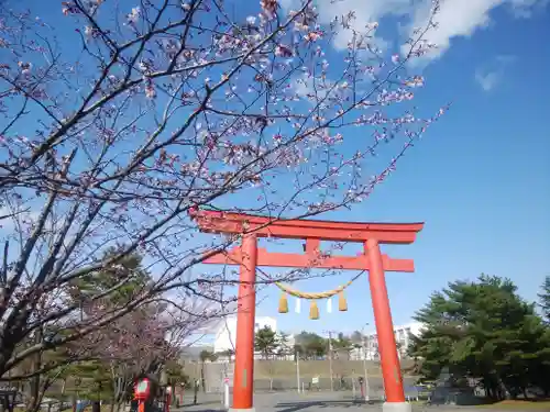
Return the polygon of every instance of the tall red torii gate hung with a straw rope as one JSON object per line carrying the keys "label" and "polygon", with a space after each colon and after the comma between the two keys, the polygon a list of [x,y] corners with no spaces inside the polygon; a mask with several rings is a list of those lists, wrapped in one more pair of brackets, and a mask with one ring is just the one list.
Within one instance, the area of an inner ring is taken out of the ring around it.
{"label": "tall red torii gate hung with a straw rope", "polygon": [[[208,257],[202,263],[240,265],[233,411],[253,410],[254,320],[256,266],[369,270],[378,350],[388,411],[410,411],[405,402],[399,357],[384,271],[414,271],[413,259],[394,259],[381,253],[381,244],[411,244],[424,223],[348,223],[283,220],[250,214],[194,210],[201,232],[242,235],[241,247]],[[271,253],[257,247],[257,237],[306,241],[305,254]],[[320,241],[362,243],[358,256],[323,257]]]}

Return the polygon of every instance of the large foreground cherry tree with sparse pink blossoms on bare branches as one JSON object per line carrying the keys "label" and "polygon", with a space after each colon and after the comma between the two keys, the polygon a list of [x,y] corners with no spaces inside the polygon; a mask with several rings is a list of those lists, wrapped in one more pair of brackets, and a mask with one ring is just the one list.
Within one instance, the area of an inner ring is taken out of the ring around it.
{"label": "large foreground cherry tree with sparse pink blossoms on bare branches", "polygon": [[[234,301],[237,278],[196,266],[238,238],[202,237],[189,211],[352,207],[444,112],[413,105],[425,81],[408,62],[433,47],[432,20],[386,56],[353,13],[322,25],[308,0],[242,4],[68,0],[52,22],[0,5],[0,377],[175,290],[182,313],[210,319],[197,299]],[[374,156],[387,162],[366,171]],[[152,280],[102,308],[136,276],[121,266],[134,253]],[[73,299],[106,267],[111,287]]]}

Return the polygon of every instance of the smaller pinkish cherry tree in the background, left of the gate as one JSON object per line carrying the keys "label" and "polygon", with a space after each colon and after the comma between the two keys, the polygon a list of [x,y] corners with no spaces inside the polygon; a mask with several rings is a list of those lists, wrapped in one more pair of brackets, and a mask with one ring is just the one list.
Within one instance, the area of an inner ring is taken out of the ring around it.
{"label": "smaller pinkish cherry tree in the background, left of the gate", "polygon": [[102,393],[108,393],[111,411],[118,411],[128,401],[135,378],[158,375],[170,360],[177,363],[186,337],[201,326],[196,316],[175,315],[166,303],[155,302],[69,344],[67,354],[81,359],[85,348],[96,379],[105,385]]}

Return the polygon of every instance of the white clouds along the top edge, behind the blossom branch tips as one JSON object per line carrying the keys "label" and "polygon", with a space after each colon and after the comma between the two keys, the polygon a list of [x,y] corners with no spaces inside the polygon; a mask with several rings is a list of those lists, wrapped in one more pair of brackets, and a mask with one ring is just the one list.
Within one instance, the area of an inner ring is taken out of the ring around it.
{"label": "white clouds along the top edge, behind the blossom branch tips", "polygon": [[[336,16],[353,12],[355,19],[351,27],[359,31],[364,31],[367,23],[386,16],[407,16],[409,23],[404,33],[408,37],[415,27],[426,26],[432,0],[317,0],[316,3],[321,23],[327,24]],[[438,48],[426,55],[424,60],[428,63],[442,56],[451,46],[452,38],[469,37],[477,30],[487,27],[492,23],[491,12],[497,7],[506,5],[513,15],[528,18],[549,3],[550,0],[441,0],[441,11],[436,19],[439,27],[426,37]],[[280,0],[280,4],[285,9],[297,9],[300,1]],[[342,31],[334,38],[334,47],[345,48],[351,36],[352,31]],[[387,45],[387,40],[377,41]]]}

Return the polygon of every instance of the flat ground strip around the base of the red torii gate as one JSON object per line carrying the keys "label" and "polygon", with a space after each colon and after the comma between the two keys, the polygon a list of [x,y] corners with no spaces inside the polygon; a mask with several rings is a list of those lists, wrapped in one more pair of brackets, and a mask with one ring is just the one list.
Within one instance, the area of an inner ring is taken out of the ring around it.
{"label": "flat ground strip around the base of the red torii gate", "polygon": [[[174,412],[219,412],[224,411],[222,399],[219,394],[199,396],[199,404],[190,405],[191,399],[185,399],[186,405]],[[189,402],[189,403],[188,403]],[[254,408],[256,412],[361,412],[382,411],[382,403],[375,401],[365,404],[354,400],[351,392],[316,392],[298,394],[297,392],[255,393]],[[550,411],[550,402],[532,402],[526,404],[514,404],[504,402],[502,404],[481,407],[455,407],[455,405],[427,405],[425,402],[413,402],[413,412],[530,412]]]}

